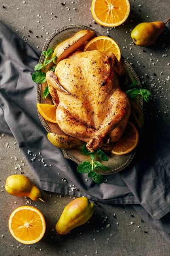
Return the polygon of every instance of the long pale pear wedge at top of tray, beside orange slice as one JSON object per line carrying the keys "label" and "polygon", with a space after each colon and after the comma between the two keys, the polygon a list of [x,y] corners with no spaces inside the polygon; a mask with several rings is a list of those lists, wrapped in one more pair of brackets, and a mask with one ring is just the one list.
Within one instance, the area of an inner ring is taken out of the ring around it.
{"label": "long pale pear wedge at top of tray, beside orange slice", "polygon": [[57,56],[57,58],[55,58],[53,62],[58,64],[59,61],[65,59],[71,52],[74,52],[93,35],[95,35],[95,33],[91,30],[81,30],[71,38],[68,38],[61,44],[57,45],[53,53],[53,57]]}

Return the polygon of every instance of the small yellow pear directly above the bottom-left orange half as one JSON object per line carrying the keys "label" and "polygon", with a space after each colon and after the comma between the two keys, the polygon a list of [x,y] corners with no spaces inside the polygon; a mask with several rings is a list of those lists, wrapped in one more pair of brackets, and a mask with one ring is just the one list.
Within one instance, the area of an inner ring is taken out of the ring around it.
{"label": "small yellow pear directly above the bottom-left orange half", "polygon": [[24,175],[11,175],[6,179],[5,185],[6,191],[10,195],[15,195],[19,197],[27,196],[33,201],[40,199],[41,197],[40,190],[32,183],[28,177]]}

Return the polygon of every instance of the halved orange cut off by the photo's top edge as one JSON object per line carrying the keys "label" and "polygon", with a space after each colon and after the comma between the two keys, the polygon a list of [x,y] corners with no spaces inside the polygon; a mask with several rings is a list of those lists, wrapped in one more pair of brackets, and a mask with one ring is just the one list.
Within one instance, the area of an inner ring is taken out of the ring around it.
{"label": "halved orange cut off by the photo's top edge", "polygon": [[100,25],[119,26],[127,19],[130,12],[128,0],[93,0],[91,13]]}

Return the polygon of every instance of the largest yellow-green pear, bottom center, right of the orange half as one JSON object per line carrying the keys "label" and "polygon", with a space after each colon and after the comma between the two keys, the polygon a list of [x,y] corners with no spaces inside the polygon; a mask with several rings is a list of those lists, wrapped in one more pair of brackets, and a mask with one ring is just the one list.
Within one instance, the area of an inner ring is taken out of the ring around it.
{"label": "largest yellow-green pear, bottom center, right of the orange half", "polygon": [[65,235],[74,227],[85,224],[94,213],[94,204],[88,198],[76,198],[63,210],[59,221],[56,224],[56,231]]}

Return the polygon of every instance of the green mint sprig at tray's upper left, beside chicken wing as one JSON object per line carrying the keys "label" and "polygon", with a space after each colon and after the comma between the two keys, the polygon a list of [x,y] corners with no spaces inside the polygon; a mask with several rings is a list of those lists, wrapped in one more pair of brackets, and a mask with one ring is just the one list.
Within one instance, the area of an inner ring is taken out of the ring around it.
{"label": "green mint sprig at tray's upper left, beside chicken wing", "polygon": [[[47,60],[48,56],[51,55],[51,53],[53,53],[54,50],[53,48],[49,48],[47,51],[43,51],[42,54],[45,56],[45,61],[44,61],[44,64],[42,63],[39,63],[35,66],[35,71],[38,71],[38,70],[41,70],[43,67],[45,67],[46,65],[48,65],[51,61],[53,61],[55,57],[51,58],[50,60]],[[53,67],[54,69],[54,67]],[[52,70],[54,71],[54,70]],[[32,80],[36,83],[45,83],[46,82],[46,79],[45,79],[45,76],[46,76],[46,73],[45,72],[36,72],[36,73],[33,73],[32,75]],[[48,91],[48,94],[49,94],[49,91]],[[44,93],[45,95],[45,98],[47,97],[48,95],[47,93]]]}

